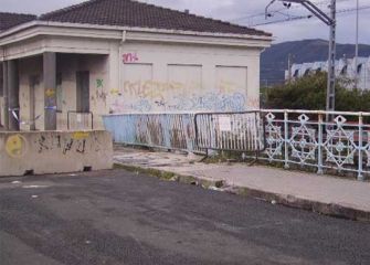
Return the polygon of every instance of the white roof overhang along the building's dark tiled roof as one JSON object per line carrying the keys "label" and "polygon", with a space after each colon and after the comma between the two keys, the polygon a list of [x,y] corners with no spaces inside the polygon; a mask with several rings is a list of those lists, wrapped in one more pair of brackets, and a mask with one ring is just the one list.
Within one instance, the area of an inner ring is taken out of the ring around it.
{"label": "white roof overhang along the building's dark tiled roof", "polygon": [[76,36],[121,41],[198,43],[260,49],[268,47],[273,41],[273,38],[267,35],[209,33],[149,28],[32,21],[0,32],[0,46],[10,45],[38,35]]}

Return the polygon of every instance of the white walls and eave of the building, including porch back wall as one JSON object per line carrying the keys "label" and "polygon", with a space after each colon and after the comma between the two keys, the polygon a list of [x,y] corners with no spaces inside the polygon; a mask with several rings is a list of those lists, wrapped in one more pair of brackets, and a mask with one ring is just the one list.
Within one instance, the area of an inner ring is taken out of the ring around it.
{"label": "white walls and eave of the building, including porch back wall", "polygon": [[[67,41],[70,40],[70,41]],[[39,75],[35,129],[44,129],[42,53],[57,54],[57,129],[76,110],[76,72],[89,71],[94,128],[102,115],[131,112],[245,110],[260,107],[261,46],[180,44],[57,36],[7,47],[20,62],[21,129],[31,128],[30,76]],[[22,59],[23,54],[28,59]]]}

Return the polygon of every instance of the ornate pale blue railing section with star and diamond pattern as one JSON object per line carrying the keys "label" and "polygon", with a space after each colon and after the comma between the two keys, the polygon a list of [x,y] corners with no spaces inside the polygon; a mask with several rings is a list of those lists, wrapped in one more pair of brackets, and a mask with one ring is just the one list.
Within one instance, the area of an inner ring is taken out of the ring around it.
{"label": "ornate pale blue railing section with star and diamond pattern", "polygon": [[370,174],[370,113],[262,110],[271,162]]}

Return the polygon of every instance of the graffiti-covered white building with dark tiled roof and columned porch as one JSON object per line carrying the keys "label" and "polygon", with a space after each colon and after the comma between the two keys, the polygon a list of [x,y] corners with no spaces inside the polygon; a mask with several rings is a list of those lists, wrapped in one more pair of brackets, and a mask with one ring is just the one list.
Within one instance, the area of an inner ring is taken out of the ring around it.
{"label": "graffiti-covered white building with dark tiled roof and columned porch", "polygon": [[102,115],[260,103],[263,31],[134,0],[0,13],[0,125],[102,128]]}

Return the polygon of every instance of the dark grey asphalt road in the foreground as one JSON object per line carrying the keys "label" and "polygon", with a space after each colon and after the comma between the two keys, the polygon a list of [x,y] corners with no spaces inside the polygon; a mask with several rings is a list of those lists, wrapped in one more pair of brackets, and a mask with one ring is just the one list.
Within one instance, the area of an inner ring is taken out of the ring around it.
{"label": "dark grey asphalt road in the foreground", "polygon": [[123,170],[2,178],[0,264],[370,264],[370,224]]}

